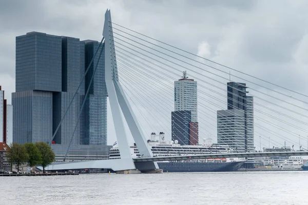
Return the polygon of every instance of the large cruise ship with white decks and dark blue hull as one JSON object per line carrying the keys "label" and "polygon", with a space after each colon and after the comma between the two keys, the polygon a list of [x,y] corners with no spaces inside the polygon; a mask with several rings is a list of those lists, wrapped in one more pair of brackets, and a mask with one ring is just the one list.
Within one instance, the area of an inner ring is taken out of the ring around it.
{"label": "large cruise ship with white decks and dark blue hull", "polygon": [[[152,150],[154,157],[159,156],[183,156],[200,154],[231,153],[233,150],[226,145],[209,144],[204,139],[202,145],[180,145],[178,140],[165,140],[164,133],[159,135],[151,134],[151,139],[147,140],[147,146]],[[114,143],[110,149],[109,158],[119,159],[119,147]],[[136,144],[130,146],[132,158],[143,157],[140,155]],[[159,169],[163,172],[232,172],[237,171],[246,159],[240,158],[208,158],[190,160],[172,160],[157,162]]]}

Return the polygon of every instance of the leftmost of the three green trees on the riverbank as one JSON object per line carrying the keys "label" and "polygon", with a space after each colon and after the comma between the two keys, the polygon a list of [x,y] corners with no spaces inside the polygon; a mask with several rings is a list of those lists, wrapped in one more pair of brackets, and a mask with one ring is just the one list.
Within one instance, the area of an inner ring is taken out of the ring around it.
{"label": "leftmost of the three green trees on the riverbank", "polygon": [[13,143],[11,149],[7,152],[6,157],[11,163],[16,163],[17,171],[19,172],[19,167],[27,162],[29,155],[24,145]]}

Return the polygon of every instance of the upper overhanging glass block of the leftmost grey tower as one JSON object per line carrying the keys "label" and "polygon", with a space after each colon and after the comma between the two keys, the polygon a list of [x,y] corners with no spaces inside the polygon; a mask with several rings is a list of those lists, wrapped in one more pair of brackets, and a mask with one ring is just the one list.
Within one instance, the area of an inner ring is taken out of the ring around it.
{"label": "upper overhanging glass block of the leftmost grey tower", "polygon": [[61,36],[30,32],[16,37],[16,92],[61,92]]}

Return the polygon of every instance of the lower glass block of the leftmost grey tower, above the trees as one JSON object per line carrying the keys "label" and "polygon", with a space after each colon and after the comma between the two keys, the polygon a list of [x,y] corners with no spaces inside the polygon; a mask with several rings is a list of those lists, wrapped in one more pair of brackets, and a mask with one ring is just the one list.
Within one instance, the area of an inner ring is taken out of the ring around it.
{"label": "lower glass block of the leftmost grey tower, above the trees", "polygon": [[12,93],[13,142],[49,142],[52,136],[52,92]]}

